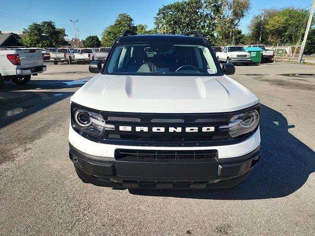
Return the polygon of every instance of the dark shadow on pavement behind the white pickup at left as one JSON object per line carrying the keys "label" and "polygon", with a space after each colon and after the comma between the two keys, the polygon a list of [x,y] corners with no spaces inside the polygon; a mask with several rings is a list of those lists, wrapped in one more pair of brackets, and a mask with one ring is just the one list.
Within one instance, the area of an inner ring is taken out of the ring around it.
{"label": "dark shadow on pavement behind the white pickup at left", "polygon": [[[0,128],[16,120],[38,112],[64,98],[71,96],[72,91],[52,91],[51,89],[71,89],[84,85],[83,80],[33,80],[26,85],[15,85],[7,82],[0,90]],[[32,91],[24,91],[32,89]],[[41,91],[41,90],[49,91]]]}

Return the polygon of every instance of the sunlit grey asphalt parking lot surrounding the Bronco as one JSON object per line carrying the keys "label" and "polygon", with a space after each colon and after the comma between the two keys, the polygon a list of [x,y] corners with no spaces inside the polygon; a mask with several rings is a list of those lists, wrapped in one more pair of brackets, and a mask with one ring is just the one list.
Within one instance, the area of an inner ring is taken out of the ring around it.
{"label": "sunlit grey asphalt parking lot surrounding the Bronco", "polygon": [[261,102],[262,159],[215,190],[82,183],[68,157],[69,99],[94,75],[47,67],[0,90],[0,235],[315,235],[315,75],[302,75],[314,65],[236,66],[231,77]]}

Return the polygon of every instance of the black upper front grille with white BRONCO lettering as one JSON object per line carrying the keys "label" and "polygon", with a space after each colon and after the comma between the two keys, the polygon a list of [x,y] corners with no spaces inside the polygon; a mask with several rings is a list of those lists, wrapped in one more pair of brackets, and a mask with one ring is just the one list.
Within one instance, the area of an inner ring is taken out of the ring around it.
{"label": "black upper front grille with white BRONCO lettering", "polygon": [[106,124],[115,126],[114,130],[105,130],[101,137],[82,133],[73,126],[87,139],[113,145],[156,147],[210,147],[237,144],[250,137],[256,130],[233,139],[227,129],[219,127],[228,125],[230,118],[237,113],[252,109],[259,112],[259,104],[235,112],[192,114],[105,112],[72,103],[71,111],[75,108],[100,113]]}

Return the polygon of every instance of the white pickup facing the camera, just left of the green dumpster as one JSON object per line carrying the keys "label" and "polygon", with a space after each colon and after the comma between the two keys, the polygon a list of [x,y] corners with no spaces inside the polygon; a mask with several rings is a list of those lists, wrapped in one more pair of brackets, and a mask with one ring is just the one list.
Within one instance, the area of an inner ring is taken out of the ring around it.
{"label": "white pickup facing the camera, just left of the green dumpster", "polygon": [[216,56],[219,61],[226,63],[249,64],[251,62],[251,54],[246,52],[242,46],[226,46],[222,52],[217,52]]}

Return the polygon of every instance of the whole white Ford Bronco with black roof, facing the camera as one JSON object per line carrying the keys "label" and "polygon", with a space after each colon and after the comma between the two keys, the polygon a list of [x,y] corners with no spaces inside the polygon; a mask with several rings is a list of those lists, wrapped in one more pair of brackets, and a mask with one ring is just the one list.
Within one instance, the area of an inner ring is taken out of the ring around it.
{"label": "whole white Ford Bronco with black roof, facing the camera", "polygon": [[126,30],[103,67],[90,64],[97,75],[70,107],[69,156],[83,182],[195,189],[248,177],[260,159],[259,99],[190,33]]}

